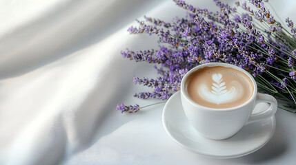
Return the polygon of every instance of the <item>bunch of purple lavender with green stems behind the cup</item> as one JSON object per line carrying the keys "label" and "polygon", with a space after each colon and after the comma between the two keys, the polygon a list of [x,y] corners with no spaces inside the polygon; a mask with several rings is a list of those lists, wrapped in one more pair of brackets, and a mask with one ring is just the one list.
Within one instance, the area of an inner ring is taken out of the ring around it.
{"label": "bunch of purple lavender with green stems behind the cup", "polygon": [[[155,79],[135,77],[136,84],[152,88],[135,97],[167,100],[179,91],[181,78],[191,68],[210,62],[230,63],[252,74],[258,91],[282,100],[280,106],[295,113],[288,109],[296,107],[296,28],[293,21],[287,18],[286,25],[277,21],[262,0],[249,0],[248,4],[237,2],[236,8],[214,0],[219,12],[174,1],[187,10],[186,17],[176,17],[170,23],[144,17],[145,21],[138,21],[139,27],[128,29],[130,34],[159,36],[159,50],[121,52],[124,58],[136,62],[155,63],[159,74]],[[237,12],[239,8],[244,12]],[[142,108],[138,104],[117,105],[122,113]]]}

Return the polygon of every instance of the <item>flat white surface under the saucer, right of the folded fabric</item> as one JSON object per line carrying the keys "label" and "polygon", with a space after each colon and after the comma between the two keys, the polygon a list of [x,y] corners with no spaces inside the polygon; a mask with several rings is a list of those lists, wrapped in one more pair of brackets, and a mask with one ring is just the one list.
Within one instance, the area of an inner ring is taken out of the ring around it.
{"label": "flat white surface under the saucer, right of the folded fabric", "polygon": [[67,164],[295,164],[296,116],[282,109],[275,115],[275,133],[265,146],[243,157],[213,159],[187,151],[166,133],[161,120],[163,107],[132,115],[109,113],[93,144]]}

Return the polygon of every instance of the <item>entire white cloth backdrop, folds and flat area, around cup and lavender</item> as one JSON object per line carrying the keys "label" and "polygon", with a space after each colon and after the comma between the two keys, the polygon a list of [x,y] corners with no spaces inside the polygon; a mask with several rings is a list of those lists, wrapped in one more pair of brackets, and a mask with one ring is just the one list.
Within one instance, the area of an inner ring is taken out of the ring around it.
{"label": "entire white cloth backdrop, folds and flat area, around cup and lavender", "polygon": [[[271,3],[296,20],[295,1]],[[120,54],[157,48],[157,37],[127,28],[144,15],[181,14],[172,1],[0,0],[0,164],[293,164],[296,115],[282,109],[270,142],[235,159],[179,146],[162,126],[164,104],[133,114],[115,109],[157,102],[132,97],[147,90],[133,76],[157,76],[152,65]]]}

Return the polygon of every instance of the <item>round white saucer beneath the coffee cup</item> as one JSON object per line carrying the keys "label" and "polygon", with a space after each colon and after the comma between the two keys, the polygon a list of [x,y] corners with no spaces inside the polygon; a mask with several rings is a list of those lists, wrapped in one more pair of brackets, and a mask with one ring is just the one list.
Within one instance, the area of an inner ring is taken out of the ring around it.
{"label": "round white saucer beneath the coffee cup", "polygon": [[[267,104],[257,104],[255,111],[266,109]],[[248,155],[264,146],[275,132],[275,116],[244,126],[226,140],[210,140],[195,131],[188,122],[178,91],[168,99],[162,116],[164,129],[184,148],[215,158],[232,158]]]}

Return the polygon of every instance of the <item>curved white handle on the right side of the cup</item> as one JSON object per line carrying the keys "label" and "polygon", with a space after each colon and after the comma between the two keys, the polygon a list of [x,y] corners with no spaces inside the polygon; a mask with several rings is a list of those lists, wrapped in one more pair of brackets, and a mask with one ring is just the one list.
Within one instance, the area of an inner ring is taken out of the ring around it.
{"label": "curved white handle on the right side of the cup", "polygon": [[265,111],[250,115],[250,118],[248,118],[248,122],[246,122],[246,124],[270,118],[271,116],[275,115],[275,112],[277,111],[277,100],[273,96],[258,93],[255,104],[258,104],[259,102],[268,102],[270,103],[270,106]]}

